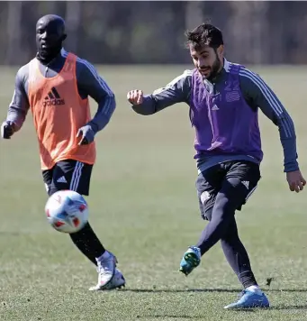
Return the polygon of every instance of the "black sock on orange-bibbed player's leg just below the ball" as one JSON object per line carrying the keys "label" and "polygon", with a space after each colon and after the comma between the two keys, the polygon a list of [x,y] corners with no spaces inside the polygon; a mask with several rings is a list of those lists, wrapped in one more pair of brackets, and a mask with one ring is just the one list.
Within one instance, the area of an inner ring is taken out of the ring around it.
{"label": "black sock on orange-bibbed player's leg just below the ball", "polygon": [[95,258],[104,254],[105,249],[103,244],[100,243],[91,225],[86,223],[82,230],[77,233],[70,234],[70,238],[77,248],[86,255],[87,259],[97,265]]}

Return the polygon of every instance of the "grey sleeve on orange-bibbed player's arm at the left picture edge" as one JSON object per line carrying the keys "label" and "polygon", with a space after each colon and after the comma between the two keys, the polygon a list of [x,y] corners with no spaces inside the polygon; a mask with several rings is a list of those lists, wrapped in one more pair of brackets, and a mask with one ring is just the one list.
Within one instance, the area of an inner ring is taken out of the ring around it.
{"label": "grey sleeve on orange-bibbed player's arm at the left picture edge", "polygon": [[28,114],[30,105],[28,95],[26,93],[25,82],[28,78],[28,66],[23,66],[18,70],[15,78],[14,95],[9,105],[6,117],[7,122],[14,123],[14,132],[19,131]]}

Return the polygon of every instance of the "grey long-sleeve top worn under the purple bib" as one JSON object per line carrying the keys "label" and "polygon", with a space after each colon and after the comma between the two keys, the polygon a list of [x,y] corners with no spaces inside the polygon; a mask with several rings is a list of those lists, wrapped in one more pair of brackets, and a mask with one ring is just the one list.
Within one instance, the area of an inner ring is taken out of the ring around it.
{"label": "grey long-sleeve top worn under the purple bib", "polygon": [[[203,79],[207,90],[212,94],[220,92],[224,86],[225,76],[229,72],[229,62],[224,60],[224,67],[220,74],[210,82]],[[159,88],[152,95],[144,96],[140,105],[132,105],[133,110],[140,115],[152,115],[176,103],[190,104],[193,70],[185,70],[179,77],[172,80],[166,87]],[[298,170],[296,152],[296,136],[291,116],[284,105],[266,82],[249,69],[240,69],[239,85],[241,92],[252,109],[259,108],[279,129],[280,141],[284,150],[284,171]],[[203,156],[197,160],[199,171],[210,168],[217,163],[232,160],[251,160],[248,155],[214,155]],[[256,161],[257,162],[257,161]]]}

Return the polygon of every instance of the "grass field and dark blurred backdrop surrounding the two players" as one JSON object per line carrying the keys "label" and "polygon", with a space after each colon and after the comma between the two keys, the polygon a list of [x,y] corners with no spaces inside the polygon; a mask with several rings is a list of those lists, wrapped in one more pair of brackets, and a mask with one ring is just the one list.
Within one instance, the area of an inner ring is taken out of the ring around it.
{"label": "grass field and dark blurred backdrop surrounding the two players", "polygon": [[[1,321],[225,320],[221,307],[236,298],[239,283],[220,245],[189,278],[177,271],[205,225],[194,188],[188,106],[136,115],[127,92],[151,93],[192,69],[184,32],[211,19],[224,34],[227,59],[256,71],[292,116],[306,178],[307,2],[1,1],[0,122],[16,71],[35,55],[35,23],[44,14],[66,19],[66,49],[95,64],[116,96],[110,124],[95,137],[87,200],[91,225],[119,258],[129,290],[88,295],[95,269],[67,235],[48,225],[29,112],[20,132],[0,139]],[[93,100],[91,107],[93,114]],[[271,291],[274,308],[226,318],[305,321],[306,190],[289,192],[278,128],[261,112],[259,124],[262,179],[237,220],[257,281]],[[268,278],[274,278],[270,286]]]}

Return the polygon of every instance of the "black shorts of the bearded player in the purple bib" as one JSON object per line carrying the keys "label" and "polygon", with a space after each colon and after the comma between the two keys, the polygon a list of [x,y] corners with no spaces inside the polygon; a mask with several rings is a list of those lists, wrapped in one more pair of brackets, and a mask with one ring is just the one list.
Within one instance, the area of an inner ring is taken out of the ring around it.
{"label": "black shorts of the bearded player in the purple bib", "polygon": [[260,178],[259,165],[252,161],[227,161],[201,172],[196,188],[203,219],[211,220],[212,207],[221,191],[227,191],[241,210]]}

